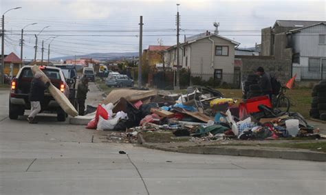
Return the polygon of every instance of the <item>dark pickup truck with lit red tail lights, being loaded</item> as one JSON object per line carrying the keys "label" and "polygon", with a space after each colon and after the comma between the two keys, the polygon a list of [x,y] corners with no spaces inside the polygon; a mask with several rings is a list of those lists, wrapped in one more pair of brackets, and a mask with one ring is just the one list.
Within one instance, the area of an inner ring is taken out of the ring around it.
{"label": "dark pickup truck with lit red tail lights, being loaded", "polygon": [[[39,67],[51,80],[52,84],[69,97],[69,87],[63,76],[63,71],[56,67]],[[30,83],[33,79],[31,66],[22,67],[17,76],[12,79],[9,98],[9,118],[18,119],[19,115],[24,115],[25,110],[30,110]],[[59,122],[64,122],[67,114],[52,95],[45,91],[45,100],[41,102],[41,112],[56,112]]]}

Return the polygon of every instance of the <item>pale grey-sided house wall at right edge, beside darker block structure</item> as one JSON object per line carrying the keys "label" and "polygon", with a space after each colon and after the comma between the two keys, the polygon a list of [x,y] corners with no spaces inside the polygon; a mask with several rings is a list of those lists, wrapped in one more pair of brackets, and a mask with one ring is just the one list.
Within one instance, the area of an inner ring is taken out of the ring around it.
{"label": "pale grey-sided house wall at right edge, beside darker block structure", "polygon": [[326,80],[326,22],[287,32],[297,80]]}

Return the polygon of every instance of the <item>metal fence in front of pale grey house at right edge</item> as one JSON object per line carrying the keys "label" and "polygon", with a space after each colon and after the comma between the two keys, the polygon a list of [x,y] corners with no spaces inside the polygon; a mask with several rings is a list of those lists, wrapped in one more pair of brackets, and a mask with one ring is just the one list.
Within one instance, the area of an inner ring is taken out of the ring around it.
{"label": "metal fence in front of pale grey house at right edge", "polygon": [[302,67],[294,65],[292,75],[296,74],[296,80],[326,80],[326,66]]}

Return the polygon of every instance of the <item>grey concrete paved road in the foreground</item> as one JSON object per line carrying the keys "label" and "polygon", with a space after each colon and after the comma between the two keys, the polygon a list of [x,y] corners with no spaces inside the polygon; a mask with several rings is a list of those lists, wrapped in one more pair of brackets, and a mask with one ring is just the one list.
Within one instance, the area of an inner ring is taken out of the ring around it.
{"label": "grey concrete paved road in the foreground", "polygon": [[[92,91],[91,101],[100,98],[95,88]],[[7,113],[8,92],[0,91],[0,194],[326,192],[325,163],[108,144],[102,143],[102,132],[56,122],[53,116],[28,124],[24,118],[8,119]]]}

